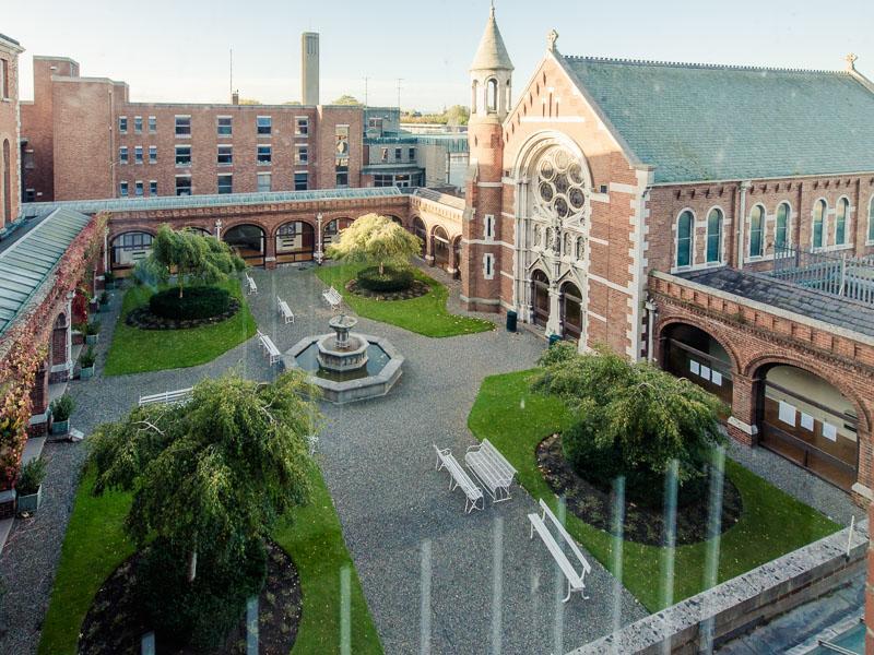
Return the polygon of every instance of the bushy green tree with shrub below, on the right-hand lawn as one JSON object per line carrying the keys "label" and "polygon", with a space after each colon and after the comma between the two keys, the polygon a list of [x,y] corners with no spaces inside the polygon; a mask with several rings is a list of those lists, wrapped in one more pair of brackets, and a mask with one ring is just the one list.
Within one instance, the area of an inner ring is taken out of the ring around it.
{"label": "bushy green tree with shrub below, on the right-hand lawn", "polygon": [[646,489],[676,460],[683,485],[704,475],[710,450],[724,442],[722,403],[688,380],[605,347],[587,355],[553,347],[541,364],[533,390],[557,395],[575,412],[563,445],[586,477],[624,475],[629,487]]}

